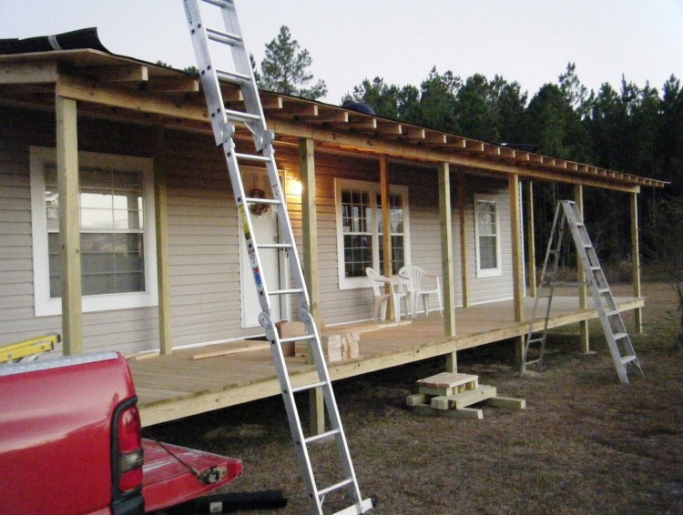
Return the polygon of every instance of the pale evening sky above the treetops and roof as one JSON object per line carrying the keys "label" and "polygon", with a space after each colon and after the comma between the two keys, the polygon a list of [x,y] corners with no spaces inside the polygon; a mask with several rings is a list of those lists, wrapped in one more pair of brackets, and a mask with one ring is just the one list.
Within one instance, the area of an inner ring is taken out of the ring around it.
{"label": "pale evening sky above the treetops and roof", "polygon": [[[339,104],[362,80],[419,86],[433,66],[517,81],[529,98],[569,62],[588,88],[683,79],[683,0],[236,0],[257,63],[281,25]],[[210,9],[210,6],[209,6]],[[207,24],[209,25],[209,24]],[[212,24],[220,25],[218,24]],[[0,38],[97,26],[113,53],[195,65],[182,0],[0,0]]]}

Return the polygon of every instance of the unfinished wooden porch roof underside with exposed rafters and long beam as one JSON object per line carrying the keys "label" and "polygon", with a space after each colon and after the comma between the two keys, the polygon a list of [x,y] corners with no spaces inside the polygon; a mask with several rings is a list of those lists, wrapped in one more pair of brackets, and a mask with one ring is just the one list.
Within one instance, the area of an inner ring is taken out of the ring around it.
{"label": "unfinished wooden porch roof underside with exposed rafters and long beam", "polygon": [[[221,89],[230,108],[243,108],[238,86]],[[56,95],[79,101],[86,116],[210,132],[199,79],[188,73],[89,49],[0,56],[0,103],[54,109]],[[284,143],[307,137],[324,149],[624,191],[667,184],[293,96],[262,91],[261,103]]]}

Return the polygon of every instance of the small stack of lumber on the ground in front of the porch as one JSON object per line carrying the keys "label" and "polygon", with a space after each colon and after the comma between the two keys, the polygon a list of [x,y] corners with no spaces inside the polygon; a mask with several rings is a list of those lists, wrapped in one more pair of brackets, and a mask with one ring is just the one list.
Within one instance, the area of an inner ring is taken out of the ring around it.
{"label": "small stack of lumber on the ground in front of the porch", "polygon": [[417,393],[405,400],[408,406],[430,412],[448,412],[456,417],[483,419],[482,409],[470,408],[486,402],[499,408],[525,409],[525,399],[498,397],[495,387],[480,385],[479,376],[442,372],[417,381]]}

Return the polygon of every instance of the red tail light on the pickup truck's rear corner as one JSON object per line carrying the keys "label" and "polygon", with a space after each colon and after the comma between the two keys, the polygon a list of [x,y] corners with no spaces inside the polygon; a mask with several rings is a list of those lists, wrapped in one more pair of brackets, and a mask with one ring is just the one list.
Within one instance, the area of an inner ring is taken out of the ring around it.
{"label": "red tail light on the pickup truck's rear corner", "polygon": [[140,414],[136,404],[118,413],[116,425],[115,478],[118,491],[125,493],[142,486],[143,450],[140,437]]}

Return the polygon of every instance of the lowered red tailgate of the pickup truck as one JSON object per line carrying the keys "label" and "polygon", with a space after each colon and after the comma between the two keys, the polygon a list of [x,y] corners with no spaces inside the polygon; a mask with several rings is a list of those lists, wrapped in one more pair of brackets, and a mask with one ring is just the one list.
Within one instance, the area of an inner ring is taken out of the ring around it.
{"label": "lowered red tailgate of the pickup truck", "polygon": [[[208,494],[227,485],[242,473],[240,459],[167,443],[162,446],[150,439],[142,439],[142,446],[145,449],[145,464],[142,468],[145,511],[161,510]],[[189,470],[188,465],[199,474],[213,467],[224,467],[225,474],[216,482],[205,484]]]}

